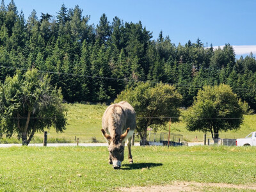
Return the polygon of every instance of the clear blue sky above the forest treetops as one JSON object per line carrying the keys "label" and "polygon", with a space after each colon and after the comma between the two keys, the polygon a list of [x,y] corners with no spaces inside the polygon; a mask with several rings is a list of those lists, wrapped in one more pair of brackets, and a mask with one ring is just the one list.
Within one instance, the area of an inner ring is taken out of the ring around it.
{"label": "clear blue sky above the forest treetops", "polygon": [[[4,1],[7,5],[10,0]],[[204,44],[236,45],[237,55],[256,54],[256,1],[254,0],[14,0],[26,19],[33,9],[56,15],[61,4],[67,8],[79,5],[83,15],[90,15],[90,24],[99,23],[102,13],[111,22],[115,16],[124,22],[138,22],[153,32],[169,35],[175,45],[195,42],[199,37]],[[243,45],[243,47],[241,47]],[[250,46],[247,46],[250,45]],[[255,46],[252,46],[255,45]],[[235,47],[235,46],[234,46]]]}

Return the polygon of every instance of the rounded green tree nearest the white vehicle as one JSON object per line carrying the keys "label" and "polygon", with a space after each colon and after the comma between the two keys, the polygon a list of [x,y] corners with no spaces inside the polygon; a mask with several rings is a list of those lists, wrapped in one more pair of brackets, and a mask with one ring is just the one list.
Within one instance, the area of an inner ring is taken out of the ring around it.
{"label": "rounded green tree nearest the white vehicle", "polygon": [[243,109],[230,86],[204,86],[183,118],[189,131],[211,132],[218,139],[220,131],[239,129]]}

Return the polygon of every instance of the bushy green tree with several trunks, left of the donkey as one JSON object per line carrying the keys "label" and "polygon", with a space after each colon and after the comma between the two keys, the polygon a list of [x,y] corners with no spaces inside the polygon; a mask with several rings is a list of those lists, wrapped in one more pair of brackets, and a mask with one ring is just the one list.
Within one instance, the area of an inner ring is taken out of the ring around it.
{"label": "bushy green tree with several trunks, left of the donkey", "polygon": [[50,78],[35,68],[24,75],[18,70],[1,84],[0,131],[8,137],[17,133],[22,145],[28,145],[35,132],[51,126],[62,132],[66,125],[64,112],[61,90],[52,87]]}

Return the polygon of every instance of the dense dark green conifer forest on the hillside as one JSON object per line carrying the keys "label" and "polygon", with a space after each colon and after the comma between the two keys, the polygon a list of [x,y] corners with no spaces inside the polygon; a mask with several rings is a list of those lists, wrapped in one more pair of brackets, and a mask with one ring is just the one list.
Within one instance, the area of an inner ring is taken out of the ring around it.
{"label": "dense dark green conifer forest on the hillside", "polygon": [[196,42],[175,45],[163,31],[152,39],[139,21],[124,22],[105,14],[95,26],[78,5],[61,5],[56,15],[35,10],[28,19],[14,1],[0,6],[0,80],[17,68],[52,72],[51,84],[67,102],[109,102],[134,81],[173,84],[188,107],[205,85],[228,84],[256,109],[256,60],[236,60],[233,47]]}

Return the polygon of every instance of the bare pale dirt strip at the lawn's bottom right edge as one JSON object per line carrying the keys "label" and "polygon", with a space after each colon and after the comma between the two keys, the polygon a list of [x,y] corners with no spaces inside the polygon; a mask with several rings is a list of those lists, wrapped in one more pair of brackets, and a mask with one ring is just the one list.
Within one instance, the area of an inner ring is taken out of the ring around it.
{"label": "bare pale dirt strip at the lawn's bottom right edge", "polygon": [[173,184],[164,186],[150,186],[150,187],[132,187],[132,188],[120,188],[119,191],[129,192],[158,192],[158,191],[205,191],[205,189],[248,189],[256,191],[255,185],[235,185],[235,184],[224,184],[224,183],[200,183],[200,182],[173,182]]}

